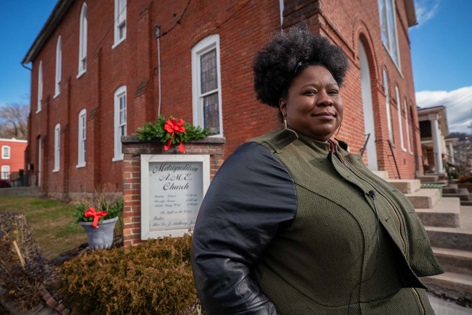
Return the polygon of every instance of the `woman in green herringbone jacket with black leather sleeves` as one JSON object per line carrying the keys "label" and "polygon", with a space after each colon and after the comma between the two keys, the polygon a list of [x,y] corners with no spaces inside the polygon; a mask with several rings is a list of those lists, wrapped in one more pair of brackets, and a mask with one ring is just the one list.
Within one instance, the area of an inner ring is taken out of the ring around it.
{"label": "woman in green herringbone jacket with black leather sleeves", "polygon": [[412,204],[330,140],[342,49],[303,23],[253,69],[285,127],[239,146],[202,202],[192,266],[208,314],[434,314],[419,277],[444,271]]}

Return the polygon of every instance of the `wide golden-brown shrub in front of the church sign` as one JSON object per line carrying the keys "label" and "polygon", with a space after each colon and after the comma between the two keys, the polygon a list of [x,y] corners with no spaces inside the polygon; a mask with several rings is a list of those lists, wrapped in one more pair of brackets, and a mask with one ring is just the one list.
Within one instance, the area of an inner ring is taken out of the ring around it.
{"label": "wide golden-brown shrub in front of the church sign", "polygon": [[196,315],[192,237],[96,250],[61,267],[59,291],[77,314]]}

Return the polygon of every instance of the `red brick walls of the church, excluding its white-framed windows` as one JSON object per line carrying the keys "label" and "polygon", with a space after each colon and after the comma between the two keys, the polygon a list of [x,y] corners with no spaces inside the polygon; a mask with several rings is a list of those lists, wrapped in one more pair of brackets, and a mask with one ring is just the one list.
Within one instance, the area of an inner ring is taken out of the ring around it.
{"label": "red brick walls of the church, excluding its white-framed windows", "polygon": [[[36,164],[38,138],[42,142],[42,191],[68,194],[92,192],[100,187],[120,192],[123,161],[113,157],[113,94],[126,85],[127,134],[158,114],[158,55],[154,25],[169,30],[182,13],[187,0],[129,1],[126,40],[112,49],[114,1],[87,1],[87,71],[78,73],[79,17],[82,1],[74,1],[33,61],[31,77],[30,135],[26,161]],[[371,89],[380,170],[396,174],[388,147],[388,125],[382,70],[388,74],[394,153],[402,178],[414,177],[415,154],[421,161],[420,136],[408,28],[403,1],[396,2],[396,24],[401,68],[396,68],[381,41],[376,0],[284,1],[283,28],[288,29],[302,16],[312,32],[328,36],[349,57],[351,71],[341,90],[345,102],[345,121],[338,137],[347,141],[352,153],[359,153],[364,142],[362,95],[358,39],[361,39],[371,68]],[[174,17],[175,13],[175,17]],[[111,28],[110,28],[111,27]],[[160,38],[161,113],[185,121],[192,117],[191,49],[210,34],[219,34],[224,157],[253,136],[281,127],[278,110],[259,103],[253,92],[253,57],[273,32],[280,31],[280,7],[276,0],[192,1],[181,23]],[[61,92],[54,98],[55,51],[62,38]],[[36,113],[38,65],[43,66],[43,105]],[[407,100],[413,119],[409,119],[414,154],[399,145],[395,85],[401,98],[403,132]],[[86,166],[76,168],[78,113],[87,111]],[[263,121],[263,122],[262,122]],[[61,124],[61,165],[53,173],[54,126]],[[416,152],[415,152],[416,150]],[[367,152],[364,161],[367,162]],[[421,165],[418,166],[422,170]]]}

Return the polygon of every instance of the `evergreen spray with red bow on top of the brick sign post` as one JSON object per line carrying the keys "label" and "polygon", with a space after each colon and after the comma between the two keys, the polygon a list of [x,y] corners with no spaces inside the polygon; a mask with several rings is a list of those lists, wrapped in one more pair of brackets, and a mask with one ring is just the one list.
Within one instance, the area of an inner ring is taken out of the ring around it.
{"label": "evergreen spray with red bow on top of the brick sign post", "polygon": [[[178,126],[178,128],[176,127],[173,132],[169,132],[169,130],[166,129],[166,124],[168,126]],[[182,132],[179,130],[185,131]],[[139,136],[141,141],[150,141],[152,139],[158,138],[160,142],[167,142],[168,145],[170,145],[177,143],[182,144],[183,142],[187,142],[188,140],[192,139],[202,139],[206,136],[214,135],[215,133],[209,132],[208,128],[194,126],[182,119],[176,119],[174,116],[170,116],[169,119],[165,119],[161,114],[156,122],[150,121],[138,128],[136,130],[136,134]],[[166,145],[167,149],[169,148],[168,145]],[[181,152],[183,151],[181,150]]]}

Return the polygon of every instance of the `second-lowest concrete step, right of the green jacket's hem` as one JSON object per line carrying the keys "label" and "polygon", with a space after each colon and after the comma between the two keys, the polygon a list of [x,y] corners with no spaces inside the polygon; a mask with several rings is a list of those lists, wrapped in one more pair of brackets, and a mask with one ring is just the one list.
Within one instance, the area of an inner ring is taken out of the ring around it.
{"label": "second-lowest concrete step, right of the green jacket's hem", "polygon": [[472,252],[460,249],[432,247],[441,267],[447,272],[472,275]]}

